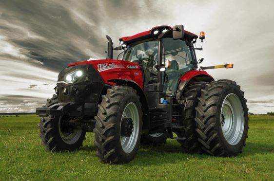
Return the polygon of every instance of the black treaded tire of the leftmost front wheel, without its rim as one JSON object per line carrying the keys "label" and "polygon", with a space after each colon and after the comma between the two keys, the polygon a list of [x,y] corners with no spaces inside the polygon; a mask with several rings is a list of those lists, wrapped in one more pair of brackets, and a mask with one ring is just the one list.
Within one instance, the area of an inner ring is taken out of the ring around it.
{"label": "black treaded tire of the leftmost front wheel, without its rim", "polygon": [[[45,107],[53,106],[58,103],[56,95],[53,95],[51,99],[47,100]],[[60,136],[59,123],[61,123],[63,116],[47,116],[41,117],[39,123],[39,136],[42,144],[48,151],[61,151],[61,150],[75,150],[82,146],[85,139],[85,132],[78,131],[76,140],[69,142],[64,141]]]}

